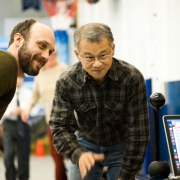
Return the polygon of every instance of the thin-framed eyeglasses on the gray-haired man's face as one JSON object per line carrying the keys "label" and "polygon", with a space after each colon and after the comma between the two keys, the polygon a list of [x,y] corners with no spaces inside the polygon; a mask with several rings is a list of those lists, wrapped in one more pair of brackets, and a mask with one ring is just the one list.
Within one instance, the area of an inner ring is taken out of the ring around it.
{"label": "thin-framed eyeglasses on the gray-haired man's face", "polygon": [[[111,51],[112,51],[112,49],[111,49]],[[91,56],[91,55],[88,55],[87,57],[82,57],[81,55],[79,55],[79,57],[83,60],[83,61],[85,61],[85,62],[87,62],[87,63],[92,63],[92,62],[94,62],[95,60],[98,60],[98,61],[105,61],[105,60],[107,60],[108,58],[109,58],[109,56],[110,56],[110,54],[111,54],[111,51],[110,51],[110,53],[109,54],[101,54],[100,56],[98,56],[98,57],[93,57],[93,56]]]}

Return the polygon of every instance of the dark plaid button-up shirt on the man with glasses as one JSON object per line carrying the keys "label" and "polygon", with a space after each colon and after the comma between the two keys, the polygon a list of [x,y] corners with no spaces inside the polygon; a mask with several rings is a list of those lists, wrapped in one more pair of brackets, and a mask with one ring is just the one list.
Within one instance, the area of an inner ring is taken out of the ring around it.
{"label": "dark plaid button-up shirt on the man with glasses", "polygon": [[110,146],[126,140],[120,178],[134,179],[141,169],[149,140],[146,87],[142,74],[132,65],[113,58],[101,86],[80,62],[56,83],[50,128],[59,153],[77,163],[86,152],[74,135]]}

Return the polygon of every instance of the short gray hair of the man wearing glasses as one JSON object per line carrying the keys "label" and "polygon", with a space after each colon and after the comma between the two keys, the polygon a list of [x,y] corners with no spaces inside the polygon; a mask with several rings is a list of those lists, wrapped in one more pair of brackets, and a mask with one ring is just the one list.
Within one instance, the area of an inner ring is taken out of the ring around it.
{"label": "short gray hair of the man wearing glasses", "polygon": [[114,42],[111,29],[101,23],[89,23],[81,26],[74,32],[74,46],[78,50],[80,41],[86,41],[90,43],[100,43],[103,38],[107,38],[110,45]]}

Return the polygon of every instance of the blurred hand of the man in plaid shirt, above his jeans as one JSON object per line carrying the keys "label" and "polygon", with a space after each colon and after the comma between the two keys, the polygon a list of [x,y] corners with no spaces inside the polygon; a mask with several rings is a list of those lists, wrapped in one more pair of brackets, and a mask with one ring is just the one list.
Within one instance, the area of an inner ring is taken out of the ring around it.
{"label": "blurred hand of the man in plaid shirt, above his jeans", "polygon": [[87,175],[87,172],[91,170],[96,161],[103,161],[104,154],[95,154],[92,152],[83,153],[79,158],[79,169],[82,179]]}

